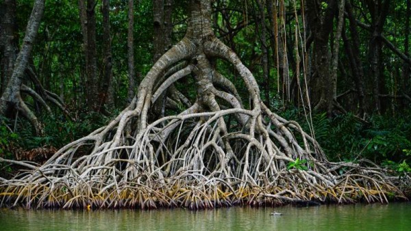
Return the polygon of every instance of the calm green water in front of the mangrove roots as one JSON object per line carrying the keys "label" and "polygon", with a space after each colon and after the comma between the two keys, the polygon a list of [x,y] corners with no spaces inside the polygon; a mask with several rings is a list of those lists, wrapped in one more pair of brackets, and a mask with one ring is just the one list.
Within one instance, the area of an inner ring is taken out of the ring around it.
{"label": "calm green water in front of the mangrove roots", "polygon": [[[269,215],[273,210],[284,215]],[[411,203],[200,211],[2,208],[0,230],[411,230]]]}

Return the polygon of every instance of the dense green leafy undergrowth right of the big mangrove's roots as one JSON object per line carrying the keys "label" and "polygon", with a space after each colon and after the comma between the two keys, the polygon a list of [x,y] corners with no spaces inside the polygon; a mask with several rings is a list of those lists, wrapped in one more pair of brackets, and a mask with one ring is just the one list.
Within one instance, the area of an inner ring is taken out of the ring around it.
{"label": "dense green leafy undergrowth right of the big mangrove's roots", "polygon": [[[399,116],[373,114],[361,120],[353,113],[329,119],[326,113],[312,115],[315,138],[330,161],[371,161],[395,170],[400,176],[411,173],[411,111]],[[285,109],[282,116],[296,120],[310,131],[303,111]]]}

